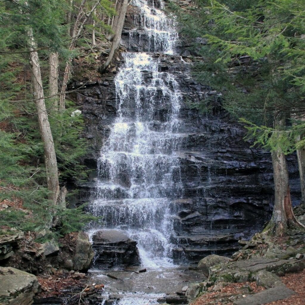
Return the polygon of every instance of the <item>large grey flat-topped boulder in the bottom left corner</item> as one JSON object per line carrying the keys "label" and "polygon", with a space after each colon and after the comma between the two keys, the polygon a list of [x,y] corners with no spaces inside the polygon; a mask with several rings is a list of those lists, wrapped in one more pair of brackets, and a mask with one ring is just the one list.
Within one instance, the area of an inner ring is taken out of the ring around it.
{"label": "large grey flat-topped boulder in the bottom left corner", "polygon": [[39,288],[35,275],[12,267],[0,267],[0,282],[1,305],[31,305]]}

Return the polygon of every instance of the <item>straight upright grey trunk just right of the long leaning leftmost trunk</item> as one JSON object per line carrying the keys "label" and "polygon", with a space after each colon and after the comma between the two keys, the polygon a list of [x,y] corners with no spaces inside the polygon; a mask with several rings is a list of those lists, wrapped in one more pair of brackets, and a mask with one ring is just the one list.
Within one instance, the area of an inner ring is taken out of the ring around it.
{"label": "straight upright grey trunk just right of the long leaning leftmost trunk", "polygon": [[52,96],[52,109],[58,110],[58,52],[50,54],[49,95]]}

